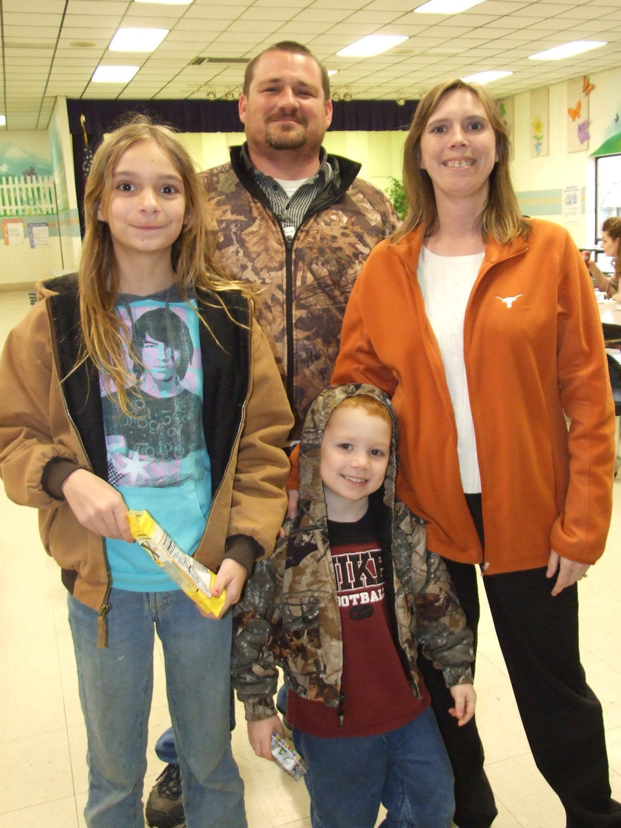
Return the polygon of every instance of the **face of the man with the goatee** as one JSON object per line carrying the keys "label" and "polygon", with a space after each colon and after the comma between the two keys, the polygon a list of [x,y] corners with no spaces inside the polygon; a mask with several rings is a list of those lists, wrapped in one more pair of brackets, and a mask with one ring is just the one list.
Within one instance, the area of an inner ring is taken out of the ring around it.
{"label": "face of the man with the goatee", "polygon": [[332,120],[319,67],[308,55],[269,51],[258,60],[239,118],[251,150],[307,149],[319,153]]}

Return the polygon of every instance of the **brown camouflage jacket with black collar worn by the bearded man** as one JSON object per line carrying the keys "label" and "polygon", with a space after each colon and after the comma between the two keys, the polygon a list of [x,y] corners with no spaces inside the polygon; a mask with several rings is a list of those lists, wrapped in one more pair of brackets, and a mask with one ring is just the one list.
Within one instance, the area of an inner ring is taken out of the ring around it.
{"label": "brown camouflage jacket with black collar worn by the bearded man", "polygon": [[201,176],[214,260],[258,290],[259,320],[271,337],[297,436],[310,402],[330,383],[354,281],[399,219],[383,192],[357,178],[358,163],[328,156],[335,176],[287,242],[241,149],[231,147],[231,163]]}

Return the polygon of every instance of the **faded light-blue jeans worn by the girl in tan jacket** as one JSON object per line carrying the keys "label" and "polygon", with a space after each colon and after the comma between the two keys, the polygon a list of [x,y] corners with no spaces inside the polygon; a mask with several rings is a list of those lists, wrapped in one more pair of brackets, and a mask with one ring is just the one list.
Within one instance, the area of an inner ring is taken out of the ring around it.
{"label": "faded light-blue jeans worn by the girl in tan jacket", "polygon": [[108,647],[98,614],[69,596],[86,722],[89,828],[143,828],[142,785],[153,689],[155,630],[176,732],[188,828],[247,828],[229,733],[232,616],[204,618],[181,590],[112,590]]}

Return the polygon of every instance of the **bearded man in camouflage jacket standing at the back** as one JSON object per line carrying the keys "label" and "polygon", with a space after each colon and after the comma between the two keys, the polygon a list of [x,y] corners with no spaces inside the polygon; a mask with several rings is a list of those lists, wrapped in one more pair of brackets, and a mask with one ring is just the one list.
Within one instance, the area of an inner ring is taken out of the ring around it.
{"label": "bearded man in camouflage jacket standing at the back", "polygon": [[[330,383],[349,292],[368,253],[397,228],[388,198],[360,165],[321,147],[332,119],[325,68],[283,41],[248,63],[239,99],[246,143],[203,173],[214,261],[259,292],[259,318],[296,416]],[[172,732],[157,744],[168,763],[147,802],[157,828],[184,821]]]}

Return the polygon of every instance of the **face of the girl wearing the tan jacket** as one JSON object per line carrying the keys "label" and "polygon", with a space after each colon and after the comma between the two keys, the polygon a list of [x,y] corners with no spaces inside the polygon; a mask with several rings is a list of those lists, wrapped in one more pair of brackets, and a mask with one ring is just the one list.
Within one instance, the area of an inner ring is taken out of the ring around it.
{"label": "face of the girl wearing the tan jacket", "polygon": [[183,180],[155,141],[132,144],[114,167],[108,204],[97,218],[108,224],[114,253],[170,253],[185,222]]}

